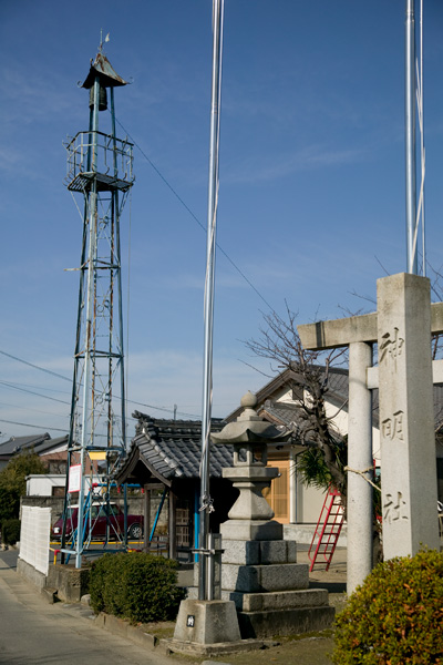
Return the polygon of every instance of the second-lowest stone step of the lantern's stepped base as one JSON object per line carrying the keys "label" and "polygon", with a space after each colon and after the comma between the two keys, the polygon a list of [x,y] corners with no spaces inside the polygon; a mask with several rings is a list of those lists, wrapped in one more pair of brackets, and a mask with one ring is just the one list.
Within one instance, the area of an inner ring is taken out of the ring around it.
{"label": "second-lowest stone step of the lantern's stepped base", "polygon": [[243,612],[262,612],[296,607],[328,606],[328,592],[326,589],[277,591],[270,593],[236,593],[223,591],[222,600],[234,601],[237,610]]}

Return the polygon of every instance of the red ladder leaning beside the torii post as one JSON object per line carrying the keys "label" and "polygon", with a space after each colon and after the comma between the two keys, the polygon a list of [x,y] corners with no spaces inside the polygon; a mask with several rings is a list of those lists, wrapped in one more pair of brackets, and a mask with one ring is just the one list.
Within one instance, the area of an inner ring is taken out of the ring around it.
{"label": "red ladder leaning beside the torii post", "polygon": [[[310,572],[316,563],[326,562],[326,570],[329,569],[343,525],[343,513],[340,492],[330,487],[308,552]],[[317,561],[319,556],[321,559]]]}

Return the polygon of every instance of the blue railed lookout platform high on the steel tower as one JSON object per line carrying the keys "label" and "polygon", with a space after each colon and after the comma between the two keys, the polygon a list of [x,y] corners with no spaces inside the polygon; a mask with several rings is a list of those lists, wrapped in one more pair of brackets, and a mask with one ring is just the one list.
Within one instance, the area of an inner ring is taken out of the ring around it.
{"label": "blue railed lookout platform high on the steel tower", "polygon": [[64,144],[68,172],[64,183],[71,192],[85,192],[96,181],[97,192],[126,192],[134,182],[133,147],[126,140],[103,132],[79,132]]}

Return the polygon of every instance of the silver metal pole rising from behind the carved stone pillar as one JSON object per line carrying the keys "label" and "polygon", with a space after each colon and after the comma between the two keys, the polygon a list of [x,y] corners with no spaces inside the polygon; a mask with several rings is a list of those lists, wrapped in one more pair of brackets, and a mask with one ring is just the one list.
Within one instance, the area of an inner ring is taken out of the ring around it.
{"label": "silver metal pole rising from behind the carved stone pillar", "polygon": [[415,194],[415,18],[414,0],[406,0],[405,19],[405,162],[406,162],[406,263],[418,274]]}

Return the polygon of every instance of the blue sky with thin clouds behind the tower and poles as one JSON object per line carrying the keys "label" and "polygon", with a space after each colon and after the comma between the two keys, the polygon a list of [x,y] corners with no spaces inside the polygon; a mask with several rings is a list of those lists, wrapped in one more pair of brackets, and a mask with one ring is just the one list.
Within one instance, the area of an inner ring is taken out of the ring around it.
{"label": "blue sky with thin clouds behind the tower and poles", "polygon": [[[443,6],[424,4],[427,260],[440,268]],[[116,91],[117,119],[206,227],[212,1],[2,0],[0,17],[0,430],[55,437],[69,381],[4,354],[72,376],[79,283],[65,268],[79,265],[82,221],[62,142],[87,126],[78,81],[110,32],[106,54],[133,81]],[[266,380],[243,340],[267,304],[282,314],[287,299],[300,323],[370,310],[352,291],[374,298],[378,277],[405,269],[403,82],[404,2],[225,1],[218,243],[261,297],[218,253],[215,416]],[[206,237],[134,154],[126,362],[128,398],[150,406],[128,412],[199,417]]]}

